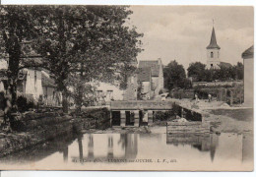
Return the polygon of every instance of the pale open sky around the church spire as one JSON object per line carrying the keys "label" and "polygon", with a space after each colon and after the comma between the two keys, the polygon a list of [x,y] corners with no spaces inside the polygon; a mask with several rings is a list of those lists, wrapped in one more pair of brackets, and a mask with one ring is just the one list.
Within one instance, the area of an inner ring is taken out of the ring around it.
{"label": "pale open sky around the church spire", "polygon": [[144,33],[139,60],[161,58],[164,65],[176,60],[206,64],[206,46],[214,26],[221,59],[236,64],[253,44],[253,8],[238,6],[131,6],[129,25]]}

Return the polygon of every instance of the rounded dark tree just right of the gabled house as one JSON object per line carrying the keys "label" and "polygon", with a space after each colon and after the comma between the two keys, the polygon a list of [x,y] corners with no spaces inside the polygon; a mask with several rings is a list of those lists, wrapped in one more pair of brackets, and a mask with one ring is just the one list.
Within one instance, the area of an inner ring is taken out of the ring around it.
{"label": "rounded dark tree just right of the gabled house", "polygon": [[184,81],[186,80],[184,67],[175,60],[171,61],[163,68],[163,79],[165,89],[184,88]]}

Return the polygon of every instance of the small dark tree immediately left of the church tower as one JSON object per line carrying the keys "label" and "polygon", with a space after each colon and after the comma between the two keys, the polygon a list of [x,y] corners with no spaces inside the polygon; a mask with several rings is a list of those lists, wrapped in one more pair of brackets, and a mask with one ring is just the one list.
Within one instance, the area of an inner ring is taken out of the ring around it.
{"label": "small dark tree immediately left of the church tower", "polygon": [[205,79],[205,69],[206,65],[201,62],[191,63],[187,69],[188,77],[192,77],[195,81],[202,82]]}

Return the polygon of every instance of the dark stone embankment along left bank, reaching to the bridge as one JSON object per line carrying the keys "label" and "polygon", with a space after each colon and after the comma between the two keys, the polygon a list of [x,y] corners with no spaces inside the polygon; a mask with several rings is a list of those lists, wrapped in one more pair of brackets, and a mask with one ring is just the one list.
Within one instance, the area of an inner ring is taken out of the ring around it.
{"label": "dark stone embankment along left bank, reaching to the bridge", "polygon": [[90,109],[80,115],[30,112],[17,117],[12,133],[0,132],[0,157],[32,148],[63,135],[81,134],[85,129],[110,126],[107,109]]}

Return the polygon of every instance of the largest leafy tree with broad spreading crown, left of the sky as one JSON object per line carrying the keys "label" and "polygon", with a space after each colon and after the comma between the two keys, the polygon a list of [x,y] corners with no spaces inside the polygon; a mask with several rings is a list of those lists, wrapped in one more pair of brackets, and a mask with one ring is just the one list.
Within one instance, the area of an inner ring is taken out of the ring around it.
{"label": "largest leafy tree with broad spreading crown, left of the sky", "polygon": [[[142,34],[124,26],[132,12],[124,6],[34,7],[38,37],[33,48],[62,92],[63,111],[68,111],[69,76],[81,79],[78,91],[92,78],[113,82],[141,51]],[[80,94],[82,94],[80,92]]]}

